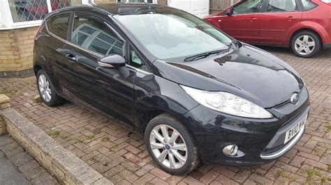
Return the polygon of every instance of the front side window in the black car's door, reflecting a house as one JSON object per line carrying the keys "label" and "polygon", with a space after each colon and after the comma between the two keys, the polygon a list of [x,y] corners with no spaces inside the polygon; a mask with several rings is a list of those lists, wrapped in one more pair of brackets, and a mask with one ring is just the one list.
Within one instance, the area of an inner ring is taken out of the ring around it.
{"label": "front side window in the black car's door, reflecting a house", "polygon": [[71,42],[104,56],[123,56],[124,42],[108,26],[88,15],[75,15]]}

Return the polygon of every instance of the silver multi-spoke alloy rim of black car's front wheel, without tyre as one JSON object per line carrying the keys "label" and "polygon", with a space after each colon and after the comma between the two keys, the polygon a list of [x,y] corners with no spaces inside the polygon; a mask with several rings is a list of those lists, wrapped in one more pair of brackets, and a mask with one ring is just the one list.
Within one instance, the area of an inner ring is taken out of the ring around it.
{"label": "silver multi-spoke alloy rim of black car's front wheel, without tyre", "polygon": [[163,166],[179,169],[187,161],[187,147],[179,132],[166,125],[159,124],[149,135],[149,145],[156,159]]}

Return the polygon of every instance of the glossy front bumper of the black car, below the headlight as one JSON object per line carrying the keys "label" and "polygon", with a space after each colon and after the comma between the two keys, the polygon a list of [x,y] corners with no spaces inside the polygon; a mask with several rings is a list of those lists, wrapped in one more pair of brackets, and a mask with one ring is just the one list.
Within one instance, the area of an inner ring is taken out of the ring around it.
{"label": "glossy front bumper of the black car, below the headlight", "polygon": [[[251,166],[273,161],[292,148],[304,133],[304,127],[285,145],[284,134],[309,113],[309,95],[304,88],[297,104],[269,108],[274,118],[238,118],[196,106],[182,121],[191,130],[203,161],[235,166]],[[236,156],[223,154],[226,145],[238,145]]]}

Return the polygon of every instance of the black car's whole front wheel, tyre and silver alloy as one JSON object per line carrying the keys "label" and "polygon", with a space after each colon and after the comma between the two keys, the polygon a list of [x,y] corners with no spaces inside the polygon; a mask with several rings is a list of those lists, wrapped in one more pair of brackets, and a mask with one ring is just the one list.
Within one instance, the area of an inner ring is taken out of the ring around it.
{"label": "black car's whole front wheel, tyre and silver alloy", "polygon": [[159,168],[172,175],[185,175],[200,163],[198,148],[188,129],[167,113],[147,124],[145,144]]}

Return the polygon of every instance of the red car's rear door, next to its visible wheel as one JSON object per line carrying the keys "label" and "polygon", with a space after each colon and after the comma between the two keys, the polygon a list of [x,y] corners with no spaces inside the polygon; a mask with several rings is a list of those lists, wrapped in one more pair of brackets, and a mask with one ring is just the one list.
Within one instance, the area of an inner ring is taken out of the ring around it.
{"label": "red car's rear door, next to its visible wheel", "polygon": [[260,18],[260,39],[266,45],[288,45],[293,26],[300,24],[302,10],[296,0],[268,0]]}

